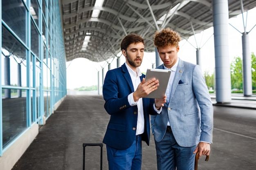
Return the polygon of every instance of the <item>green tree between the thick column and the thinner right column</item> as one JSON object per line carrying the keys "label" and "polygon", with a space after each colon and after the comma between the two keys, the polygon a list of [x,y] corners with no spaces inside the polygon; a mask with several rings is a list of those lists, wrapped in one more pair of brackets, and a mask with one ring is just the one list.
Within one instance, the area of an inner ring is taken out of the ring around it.
{"label": "green tree between the thick column and the thinner right column", "polygon": [[235,57],[230,64],[231,89],[243,89],[243,70],[241,57]]}

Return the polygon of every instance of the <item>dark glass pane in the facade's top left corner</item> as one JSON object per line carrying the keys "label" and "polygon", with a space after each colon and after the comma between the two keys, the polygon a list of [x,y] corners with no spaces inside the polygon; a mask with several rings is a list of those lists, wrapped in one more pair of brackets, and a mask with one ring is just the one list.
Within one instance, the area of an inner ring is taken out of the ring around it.
{"label": "dark glass pane in the facade's top left corner", "polygon": [[26,8],[17,0],[2,0],[2,20],[26,43]]}

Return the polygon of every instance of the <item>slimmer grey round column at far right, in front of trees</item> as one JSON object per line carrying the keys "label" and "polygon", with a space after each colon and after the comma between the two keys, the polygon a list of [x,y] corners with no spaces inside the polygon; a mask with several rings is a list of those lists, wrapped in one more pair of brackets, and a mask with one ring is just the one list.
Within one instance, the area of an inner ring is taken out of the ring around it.
{"label": "slimmer grey round column at far right, in front of trees", "polygon": [[243,91],[244,96],[252,95],[252,61],[249,49],[249,34],[242,35],[243,46]]}

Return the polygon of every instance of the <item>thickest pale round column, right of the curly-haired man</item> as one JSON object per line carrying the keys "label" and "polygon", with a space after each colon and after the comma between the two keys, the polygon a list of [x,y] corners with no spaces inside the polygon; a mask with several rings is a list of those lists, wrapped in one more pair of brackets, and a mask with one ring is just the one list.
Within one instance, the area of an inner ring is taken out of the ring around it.
{"label": "thickest pale round column, right of the curly-haired man", "polygon": [[229,7],[228,0],[212,0],[214,51],[216,69],[216,102],[231,102],[231,76],[229,64]]}

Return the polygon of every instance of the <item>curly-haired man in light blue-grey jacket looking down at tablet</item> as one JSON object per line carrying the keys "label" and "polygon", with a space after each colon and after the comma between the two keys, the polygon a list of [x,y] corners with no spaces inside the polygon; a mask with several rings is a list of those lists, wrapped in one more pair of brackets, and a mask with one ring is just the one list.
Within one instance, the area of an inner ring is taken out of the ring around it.
{"label": "curly-haired man in light blue-grey jacket looking down at tablet", "polygon": [[[151,116],[157,152],[157,170],[193,170],[195,153],[209,155],[213,132],[213,105],[200,66],[181,60],[180,35],[170,28],[157,31],[154,44],[171,70],[166,103]],[[157,100],[157,99],[156,99]],[[159,109],[158,108],[158,109]]]}

